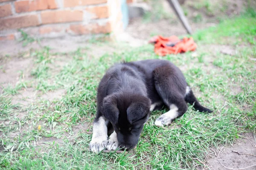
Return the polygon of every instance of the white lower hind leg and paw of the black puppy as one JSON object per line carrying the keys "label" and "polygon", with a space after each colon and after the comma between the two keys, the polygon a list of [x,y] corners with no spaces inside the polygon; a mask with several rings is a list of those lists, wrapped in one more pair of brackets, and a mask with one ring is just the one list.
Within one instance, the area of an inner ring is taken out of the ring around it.
{"label": "white lower hind leg and paw of the black puppy", "polygon": [[170,105],[170,110],[157,118],[155,125],[170,125],[178,117],[178,108],[176,105]]}

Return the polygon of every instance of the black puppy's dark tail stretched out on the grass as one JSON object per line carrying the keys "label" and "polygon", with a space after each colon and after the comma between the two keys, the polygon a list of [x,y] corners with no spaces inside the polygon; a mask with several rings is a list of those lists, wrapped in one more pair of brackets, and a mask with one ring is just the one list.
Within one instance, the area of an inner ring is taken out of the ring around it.
{"label": "black puppy's dark tail stretched out on the grass", "polygon": [[193,105],[193,107],[198,110],[199,112],[207,112],[212,113],[212,111],[208,108],[205,108],[204,106],[200,105],[198,100],[196,99],[195,95],[193,94],[192,90],[189,88],[189,92],[187,92],[185,96],[185,101],[188,102],[190,105]]}

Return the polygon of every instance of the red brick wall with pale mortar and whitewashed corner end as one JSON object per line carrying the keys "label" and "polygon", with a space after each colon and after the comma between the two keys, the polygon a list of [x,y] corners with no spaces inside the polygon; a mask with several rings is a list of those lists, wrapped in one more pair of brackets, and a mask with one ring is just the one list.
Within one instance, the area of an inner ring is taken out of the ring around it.
{"label": "red brick wall with pale mortar and whitewashed corner end", "polygon": [[18,28],[38,37],[119,34],[121,0],[0,0],[0,40]]}

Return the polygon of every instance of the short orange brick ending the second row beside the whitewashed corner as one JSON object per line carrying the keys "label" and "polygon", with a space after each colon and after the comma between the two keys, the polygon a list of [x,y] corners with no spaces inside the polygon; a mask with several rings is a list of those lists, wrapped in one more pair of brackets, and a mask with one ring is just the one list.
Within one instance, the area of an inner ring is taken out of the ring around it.
{"label": "short orange brick ending the second row beside the whitewashed corner", "polygon": [[91,17],[91,19],[109,17],[108,6],[94,6],[94,7],[86,8],[86,11],[93,14],[93,17]]}

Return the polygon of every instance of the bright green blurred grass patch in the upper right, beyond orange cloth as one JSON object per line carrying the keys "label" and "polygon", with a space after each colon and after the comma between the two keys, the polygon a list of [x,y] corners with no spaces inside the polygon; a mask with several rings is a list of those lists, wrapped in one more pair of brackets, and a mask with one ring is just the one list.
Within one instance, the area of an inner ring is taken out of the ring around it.
{"label": "bright green blurred grass patch in the upper right, beyond orange cloth", "polygon": [[193,38],[202,43],[239,45],[249,42],[256,45],[256,12],[248,8],[241,17],[222,21],[217,27],[198,31]]}

